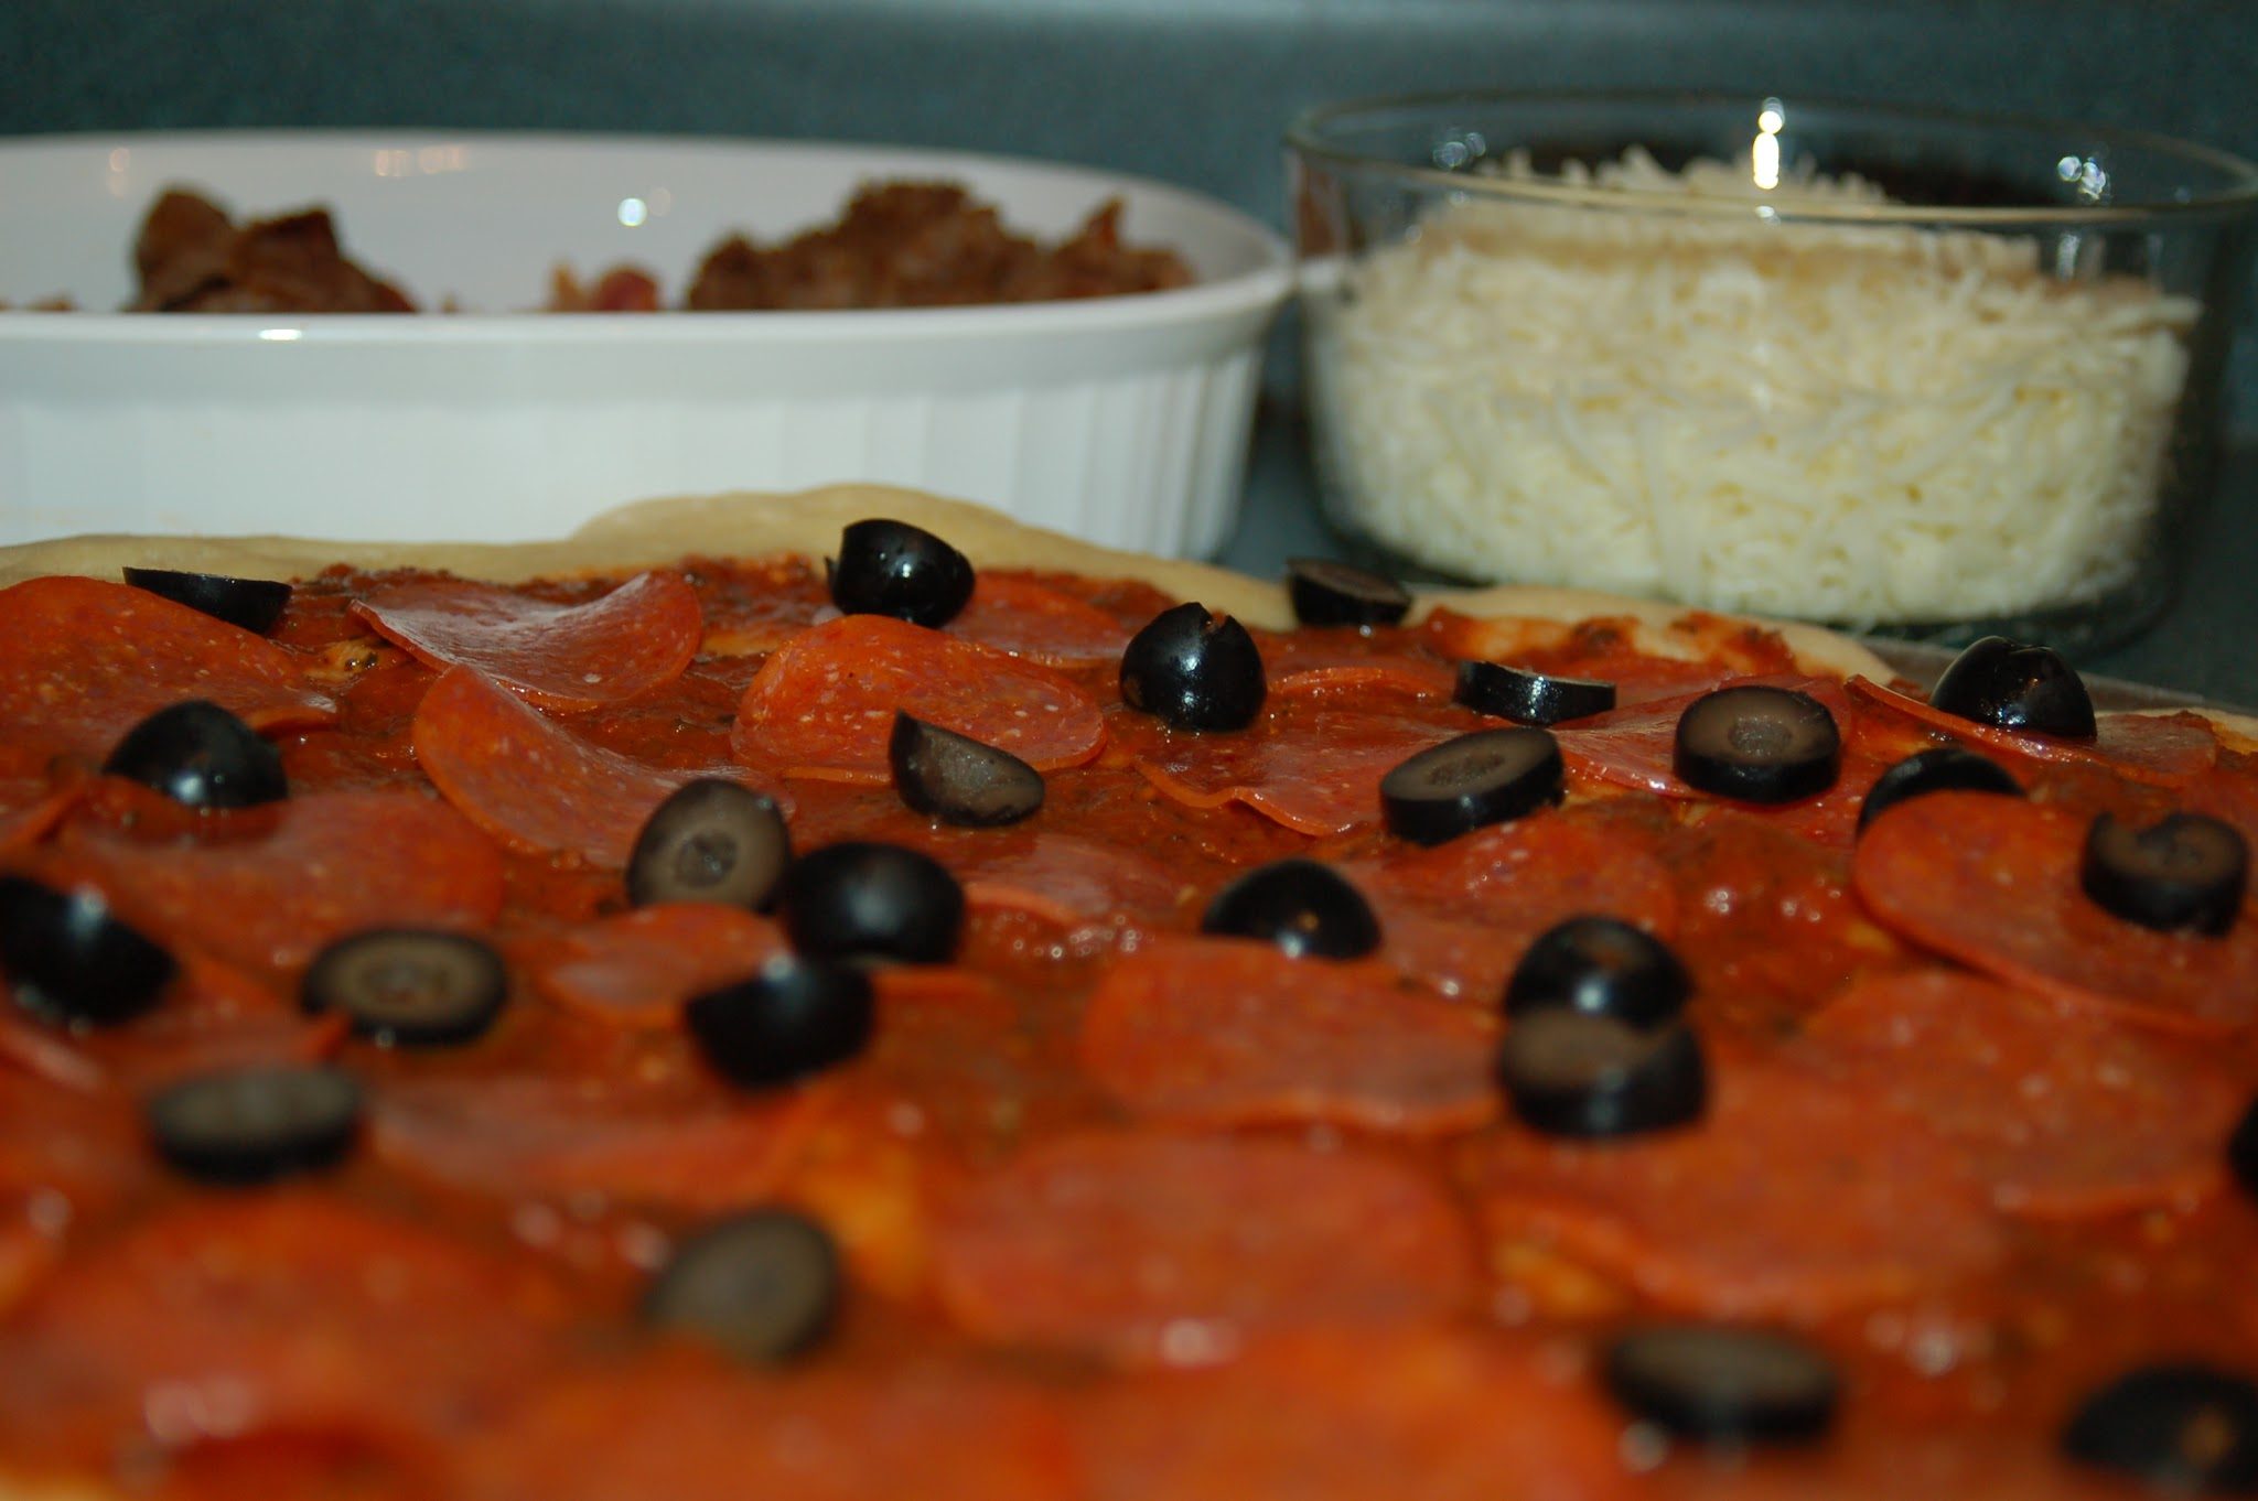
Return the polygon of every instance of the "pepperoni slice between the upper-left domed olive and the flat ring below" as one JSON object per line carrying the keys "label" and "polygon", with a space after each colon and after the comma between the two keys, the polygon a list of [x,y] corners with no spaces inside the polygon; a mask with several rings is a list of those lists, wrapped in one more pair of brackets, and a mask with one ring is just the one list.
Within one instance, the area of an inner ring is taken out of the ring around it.
{"label": "pepperoni slice between the upper-left domed olive and the flat ring below", "polygon": [[212,844],[65,826],[41,869],[102,887],[169,948],[251,971],[361,928],[476,928],[501,910],[492,840],[420,792],[309,792],[275,804],[271,833]]}

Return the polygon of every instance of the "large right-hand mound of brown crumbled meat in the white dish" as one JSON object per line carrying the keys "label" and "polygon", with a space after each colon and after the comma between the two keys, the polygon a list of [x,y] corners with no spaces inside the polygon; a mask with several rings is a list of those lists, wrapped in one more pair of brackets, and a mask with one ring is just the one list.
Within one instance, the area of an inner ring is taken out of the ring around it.
{"label": "large right-hand mound of brown crumbled meat in the white dish", "polygon": [[1073,239],[1045,248],[953,183],[867,185],[835,226],[768,251],[745,237],[716,246],[686,307],[948,307],[1188,284],[1176,253],[1120,244],[1120,208],[1100,205]]}

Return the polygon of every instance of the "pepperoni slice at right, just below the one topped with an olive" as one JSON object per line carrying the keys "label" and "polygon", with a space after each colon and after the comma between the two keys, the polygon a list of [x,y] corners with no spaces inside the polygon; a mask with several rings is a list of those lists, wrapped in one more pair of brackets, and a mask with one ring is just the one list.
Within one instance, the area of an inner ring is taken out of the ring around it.
{"label": "pepperoni slice at right, just below the one topped with an olive", "polygon": [[2034,1219],[2202,1196],[2244,1104],[2170,1043],[1973,975],[1858,982],[1806,1036],[1861,1092],[1962,1147],[1998,1208]]}

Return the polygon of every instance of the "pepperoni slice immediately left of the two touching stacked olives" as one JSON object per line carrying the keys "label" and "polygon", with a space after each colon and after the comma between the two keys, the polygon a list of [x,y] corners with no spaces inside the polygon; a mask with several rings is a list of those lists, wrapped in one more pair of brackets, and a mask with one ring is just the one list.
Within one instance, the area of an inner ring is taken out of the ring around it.
{"label": "pepperoni slice immediately left of the two touching stacked olives", "polygon": [[1082,1059],[1131,1111],[1201,1124],[1334,1122],[1429,1135],[1497,1115],[1486,1013],[1404,993],[1380,964],[1183,939],[1122,957]]}

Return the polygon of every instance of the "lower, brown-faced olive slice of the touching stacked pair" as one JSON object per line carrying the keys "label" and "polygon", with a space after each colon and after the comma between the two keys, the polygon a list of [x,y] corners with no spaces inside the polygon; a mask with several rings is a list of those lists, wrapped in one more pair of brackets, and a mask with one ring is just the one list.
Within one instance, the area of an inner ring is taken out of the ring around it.
{"label": "lower, brown-faced olive slice of the touching stacked pair", "polygon": [[1698,1120],[1709,1070],[1684,1022],[1540,1009],[1506,1027],[1497,1081],[1513,1113],[1547,1135],[1639,1135]]}

